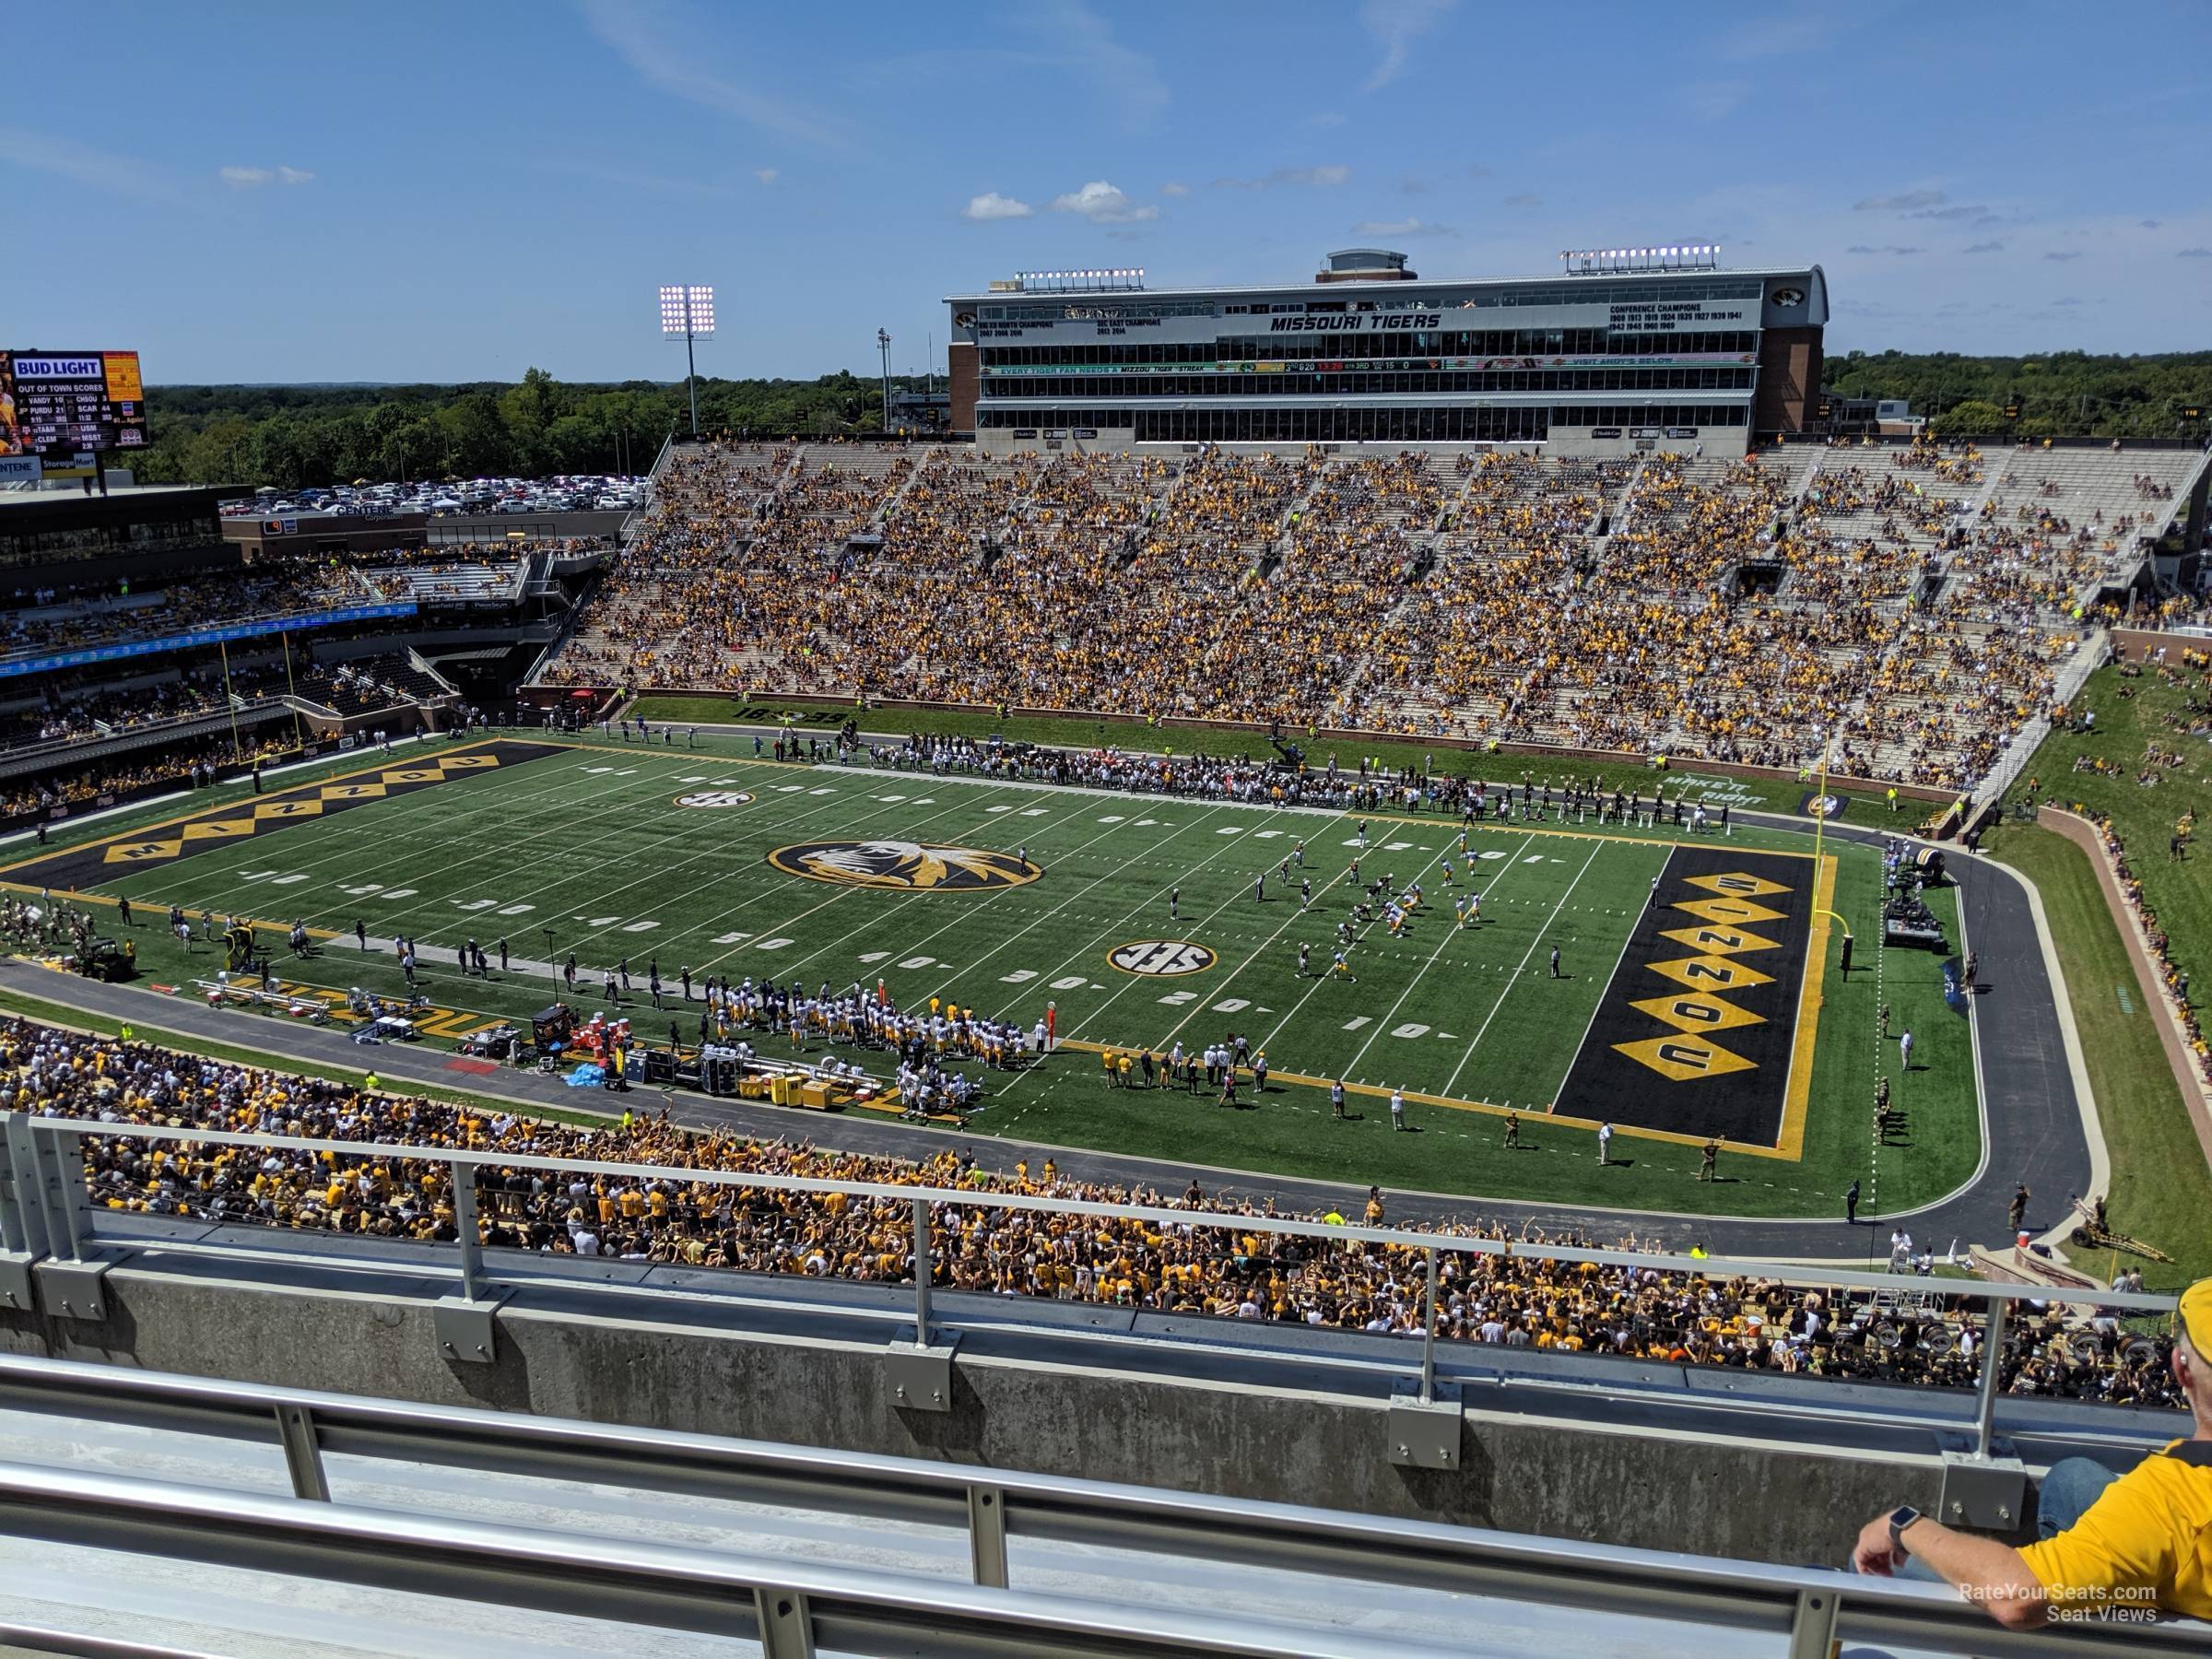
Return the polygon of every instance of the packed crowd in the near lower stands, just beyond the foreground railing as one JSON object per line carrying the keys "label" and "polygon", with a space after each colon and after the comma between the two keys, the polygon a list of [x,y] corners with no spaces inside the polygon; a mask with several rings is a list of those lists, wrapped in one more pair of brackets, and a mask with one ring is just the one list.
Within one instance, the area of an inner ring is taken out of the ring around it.
{"label": "packed crowd in the near lower stands, just beyond the foreground railing", "polygon": [[[907,1164],[686,1130],[666,1113],[577,1128],[372,1095],[27,1020],[0,1022],[4,1108],[113,1124],[113,1135],[84,1141],[93,1203],[111,1210],[451,1241],[458,1228],[449,1166],[157,1141],[131,1135],[131,1126],[447,1146],[500,1159],[478,1177],[487,1245],[896,1285],[911,1283],[909,1203],[723,1186],[686,1172],[931,1186],[964,1194],[931,1206],[931,1279],[945,1290],[1374,1334],[1416,1334],[1422,1325],[1422,1252],[1263,1232],[1250,1221],[1285,1214],[1272,1201],[1210,1199],[1197,1181],[1170,1197],[1075,1181],[1051,1161],[993,1172],[967,1152],[945,1150]],[[668,1166],[668,1175],[533,1168],[546,1157]],[[991,1203],[998,1192],[1181,1210],[1188,1219],[1011,1210]],[[1310,1219],[1345,1221],[1336,1212]],[[1369,1192],[1356,1219],[1389,1223],[1387,1199]],[[1480,1221],[1411,1230],[1509,1237]],[[1978,1327],[1936,1290],[1874,1298],[1515,1254],[1440,1252],[1438,1263],[1444,1340],[1936,1387],[1971,1385],[1978,1365]],[[2053,1305],[2013,1325],[2002,1376],[2015,1394],[2172,1407],[2166,1347],[2168,1338],[2128,1332],[2117,1318],[2073,1318]]]}

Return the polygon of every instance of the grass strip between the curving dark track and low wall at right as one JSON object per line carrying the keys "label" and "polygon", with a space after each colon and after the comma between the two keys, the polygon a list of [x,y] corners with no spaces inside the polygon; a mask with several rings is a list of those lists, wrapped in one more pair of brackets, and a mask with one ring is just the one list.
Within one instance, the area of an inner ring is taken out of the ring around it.
{"label": "grass strip between the curving dark track and low wall at right", "polygon": [[2077,1265],[2106,1279],[2137,1265],[2146,1287],[2179,1290],[2212,1272],[2212,1172],[2097,872],[2077,845],[2033,825],[2002,825],[1982,845],[2042,891],[2112,1159],[2112,1225],[2174,1256],[2168,1265],[2099,1250],[2077,1252]]}

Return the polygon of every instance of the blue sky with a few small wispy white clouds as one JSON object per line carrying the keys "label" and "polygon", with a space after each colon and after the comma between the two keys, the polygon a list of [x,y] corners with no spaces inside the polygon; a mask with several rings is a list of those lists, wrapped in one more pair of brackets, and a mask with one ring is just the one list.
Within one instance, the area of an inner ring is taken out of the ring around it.
{"label": "blue sky with a few small wispy white clouds", "polygon": [[11,44],[0,334],[153,383],[675,378],[664,281],[719,290],[703,372],[876,327],[918,372],[1020,268],[1356,243],[1814,261],[1832,352],[2212,343],[2203,0],[108,0]]}

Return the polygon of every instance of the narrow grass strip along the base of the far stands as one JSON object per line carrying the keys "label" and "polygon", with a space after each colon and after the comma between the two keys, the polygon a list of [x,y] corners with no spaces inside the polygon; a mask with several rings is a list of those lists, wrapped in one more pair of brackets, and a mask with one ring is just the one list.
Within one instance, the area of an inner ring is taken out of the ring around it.
{"label": "narrow grass strip along the base of the far stands", "polygon": [[[794,730],[816,737],[834,732],[847,719],[856,719],[865,732],[925,732],[931,737],[969,739],[1002,737],[1009,743],[1053,743],[1060,748],[1117,743],[1139,750],[1221,757],[1267,752],[1267,741],[1259,732],[1210,732],[1175,723],[1146,726],[1137,717],[1099,719],[1095,714],[1009,714],[1006,719],[1000,719],[991,710],[960,708],[874,708],[863,712],[849,701],[836,699],[743,699],[677,692],[648,692],[633,699],[628,710],[648,721],[672,721],[679,726],[697,721],[701,726],[757,723],[761,728],[772,728],[779,719],[790,717]],[[1413,743],[1405,739],[1360,739],[1358,743],[1349,743],[1305,739],[1301,732],[1290,732],[1290,741],[1307,748],[1314,765],[1325,765],[1334,752],[1338,765],[1343,768],[1356,768],[1360,757],[1367,757],[1385,768],[1409,765],[1416,772],[1433,768],[1438,772],[1471,774],[1480,770],[1484,779],[1504,783],[1517,783],[1526,776],[1540,785],[1546,779],[1557,785],[1604,783],[1608,790],[1641,790],[1644,794],[1650,794],[1655,783],[1666,783],[1668,794],[1688,787],[1697,796],[1712,801],[1725,799],[1734,805],[1756,807],[1763,812],[1796,812],[1798,799],[1805,794],[1805,790],[1794,783],[1734,779],[1721,772],[1701,772],[1697,765],[1670,765],[1666,772],[1659,772],[1657,768],[1630,765],[1626,761],[1579,761],[1564,754],[1480,754],[1467,748]],[[1876,810],[1882,796],[1880,790],[1854,790],[1840,781],[1832,781],[1832,790],[1860,801],[1863,810]],[[1929,807],[1916,805],[1907,810],[1924,816]]]}

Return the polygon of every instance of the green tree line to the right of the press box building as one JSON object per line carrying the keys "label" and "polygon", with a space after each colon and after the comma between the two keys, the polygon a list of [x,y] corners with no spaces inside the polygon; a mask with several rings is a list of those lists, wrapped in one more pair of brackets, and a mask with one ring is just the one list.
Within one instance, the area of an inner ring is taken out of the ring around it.
{"label": "green tree line to the right of the press box building", "polygon": [[1940,438],[2203,438],[2212,416],[2212,352],[1849,352],[1823,378],[1832,398],[1909,400]]}

